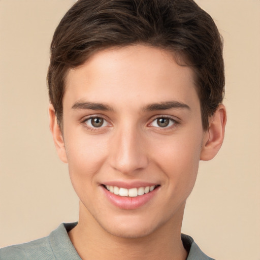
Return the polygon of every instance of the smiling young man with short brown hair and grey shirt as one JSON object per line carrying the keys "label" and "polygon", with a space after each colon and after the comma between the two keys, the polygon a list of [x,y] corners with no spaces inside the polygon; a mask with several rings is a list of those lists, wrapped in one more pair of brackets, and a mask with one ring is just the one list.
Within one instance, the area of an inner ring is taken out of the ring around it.
{"label": "smiling young man with short brown hair and grey shirt", "polygon": [[50,129],[79,221],[1,259],[212,259],[181,224],[224,137],[222,41],[191,0],[79,0],[48,71]]}

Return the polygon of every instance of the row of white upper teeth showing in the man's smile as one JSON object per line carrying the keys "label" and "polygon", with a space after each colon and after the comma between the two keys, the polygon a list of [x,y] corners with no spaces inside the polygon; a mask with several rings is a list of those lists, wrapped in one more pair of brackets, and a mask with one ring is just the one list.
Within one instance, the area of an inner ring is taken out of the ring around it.
{"label": "row of white upper teeth showing in the man's smile", "polygon": [[139,187],[139,188],[131,188],[131,189],[119,188],[117,186],[106,185],[106,188],[110,192],[112,192],[116,195],[122,196],[122,197],[137,197],[137,196],[142,196],[143,194],[148,193],[150,191],[153,191],[155,188],[155,185]]}

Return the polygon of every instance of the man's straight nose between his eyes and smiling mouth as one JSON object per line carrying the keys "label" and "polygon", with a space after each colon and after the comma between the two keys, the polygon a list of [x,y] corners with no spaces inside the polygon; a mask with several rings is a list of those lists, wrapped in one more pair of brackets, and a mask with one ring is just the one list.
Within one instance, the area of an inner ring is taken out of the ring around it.
{"label": "man's straight nose between his eyes and smiling mouth", "polygon": [[136,174],[148,165],[145,138],[136,127],[122,127],[113,136],[110,165],[123,174]]}

